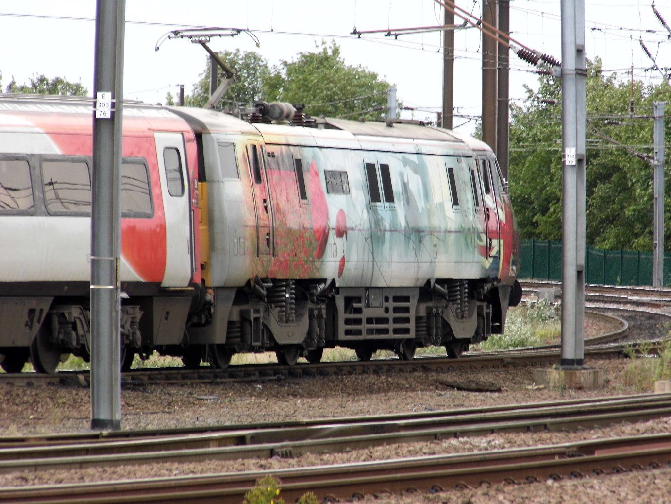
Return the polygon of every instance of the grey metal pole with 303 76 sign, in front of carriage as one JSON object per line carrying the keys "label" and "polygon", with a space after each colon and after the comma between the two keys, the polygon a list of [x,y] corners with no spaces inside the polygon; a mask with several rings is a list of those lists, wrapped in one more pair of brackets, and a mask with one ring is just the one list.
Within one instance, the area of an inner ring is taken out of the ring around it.
{"label": "grey metal pole with 303 76 sign, in front of carriage", "polygon": [[91,183],[91,429],[121,428],[121,112],[125,0],[97,0]]}

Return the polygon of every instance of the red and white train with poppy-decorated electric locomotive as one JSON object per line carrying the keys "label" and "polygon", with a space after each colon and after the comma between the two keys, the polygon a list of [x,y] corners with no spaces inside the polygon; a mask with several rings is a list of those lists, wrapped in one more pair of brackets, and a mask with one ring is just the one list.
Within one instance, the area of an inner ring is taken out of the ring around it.
{"label": "red and white train with poppy-decorated electric locomotive", "polygon": [[[0,366],[90,358],[93,101],[0,93]],[[483,142],[414,120],[123,103],[121,366],[459,357],[521,298]]]}

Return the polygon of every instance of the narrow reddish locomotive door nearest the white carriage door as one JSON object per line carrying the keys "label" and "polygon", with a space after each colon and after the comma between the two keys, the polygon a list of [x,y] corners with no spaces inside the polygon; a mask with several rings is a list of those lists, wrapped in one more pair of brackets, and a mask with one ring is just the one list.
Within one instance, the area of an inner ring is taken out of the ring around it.
{"label": "narrow reddish locomotive door nearest the white carriage door", "polygon": [[274,226],[263,151],[256,142],[248,144],[246,149],[256,214],[256,255],[260,259],[270,259],[274,255]]}

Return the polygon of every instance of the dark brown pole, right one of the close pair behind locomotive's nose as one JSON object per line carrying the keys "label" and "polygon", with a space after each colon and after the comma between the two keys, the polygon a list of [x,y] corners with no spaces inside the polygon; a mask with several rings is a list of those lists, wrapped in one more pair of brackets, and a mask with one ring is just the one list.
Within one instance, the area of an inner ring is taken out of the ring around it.
{"label": "dark brown pole, right one of the close pair behind locomotive's nose", "polygon": [[[499,30],[508,35],[510,32],[510,0],[499,0]],[[507,40],[506,40],[507,42]],[[508,134],[509,134],[509,73],[508,51],[504,44],[499,46],[499,65],[497,81],[497,159],[503,178],[508,179]]]}

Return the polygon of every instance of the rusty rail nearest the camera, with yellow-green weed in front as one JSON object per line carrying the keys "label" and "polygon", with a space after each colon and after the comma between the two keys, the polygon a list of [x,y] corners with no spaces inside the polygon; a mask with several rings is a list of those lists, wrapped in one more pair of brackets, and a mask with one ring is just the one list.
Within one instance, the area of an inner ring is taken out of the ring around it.
{"label": "rusty rail nearest the camera, with yellow-green weed in front", "polygon": [[372,493],[435,492],[498,482],[579,478],[671,465],[671,434],[598,439],[495,452],[377,460],[335,466],[146,478],[115,482],[6,487],[0,503],[110,504],[240,502],[256,480],[280,480],[281,497],[293,501],[306,491],[318,501]]}

